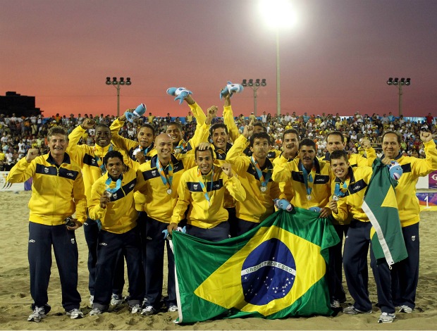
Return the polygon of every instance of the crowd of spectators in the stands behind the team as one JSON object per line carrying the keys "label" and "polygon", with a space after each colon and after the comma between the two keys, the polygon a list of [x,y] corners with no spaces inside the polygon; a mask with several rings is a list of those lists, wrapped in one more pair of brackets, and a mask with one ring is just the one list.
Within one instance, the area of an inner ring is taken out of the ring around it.
{"label": "crowd of spectators in the stands behind the team", "polygon": [[[47,132],[54,125],[62,125],[68,130],[68,134],[80,125],[85,118],[93,118],[96,123],[111,125],[115,120],[114,115],[81,115],[75,117],[73,114],[53,115],[44,118],[42,115],[32,116],[29,118],[16,116],[11,117],[0,114],[0,170],[10,170],[13,165],[27,154],[30,148],[39,149],[41,154],[48,152],[47,149]],[[358,111],[353,116],[341,116],[321,113],[321,115],[296,115],[296,113],[286,113],[285,115],[271,115],[265,111],[261,116],[255,117],[252,113],[249,117],[239,115],[235,117],[235,123],[242,131],[244,125],[251,120],[261,122],[271,137],[271,145],[281,150],[282,134],[285,130],[295,129],[300,134],[300,138],[308,137],[314,139],[317,146],[318,156],[326,153],[325,137],[328,132],[338,130],[343,132],[347,137],[346,150],[350,153],[364,154],[359,144],[360,139],[367,137],[370,139],[372,146],[377,152],[381,151],[381,137],[386,130],[400,132],[404,140],[401,144],[402,154],[424,158],[424,145],[419,138],[420,130],[429,130],[433,134],[437,132],[436,119],[431,113],[422,118],[404,118],[395,117],[391,112],[382,116],[378,114],[361,115]],[[123,137],[136,140],[137,129],[142,123],[154,125],[156,134],[165,131],[166,124],[176,121],[183,126],[184,139],[188,140],[194,134],[196,123],[195,118],[188,112],[185,118],[171,117],[167,113],[166,117],[158,117],[149,113],[149,115],[134,120],[133,123],[126,122],[119,134]],[[223,118],[214,118],[214,123],[223,122]],[[92,146],[94,144],[94,129],[85,133],[81,140],[82,144]]]}

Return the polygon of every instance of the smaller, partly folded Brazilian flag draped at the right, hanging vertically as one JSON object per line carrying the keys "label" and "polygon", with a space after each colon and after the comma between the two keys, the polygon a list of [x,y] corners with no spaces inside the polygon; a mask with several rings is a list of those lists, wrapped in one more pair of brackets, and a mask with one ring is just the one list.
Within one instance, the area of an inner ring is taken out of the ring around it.
{"label": "smaller, partly folded Brazilian flag draped at the right, hanging vertically", "polygon": [[372,225],[371,249],[376,261],[378,264],[386,262],[388,266],[408,257],[400,226],[396,185],[398,182],[390,177],[388,167],[376,158],[362,209]]}

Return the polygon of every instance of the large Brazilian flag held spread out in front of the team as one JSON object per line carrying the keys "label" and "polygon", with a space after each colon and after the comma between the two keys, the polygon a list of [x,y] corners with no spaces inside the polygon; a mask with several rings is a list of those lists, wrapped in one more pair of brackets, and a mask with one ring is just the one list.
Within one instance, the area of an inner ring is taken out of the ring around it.
{"label": "large Brazilian flag held spread out in front of the team", "polygon": [[221,242],[173,232],[177,323],[331,315],[328,247],[340,239],[318,215],[280,210],[250,232]]}

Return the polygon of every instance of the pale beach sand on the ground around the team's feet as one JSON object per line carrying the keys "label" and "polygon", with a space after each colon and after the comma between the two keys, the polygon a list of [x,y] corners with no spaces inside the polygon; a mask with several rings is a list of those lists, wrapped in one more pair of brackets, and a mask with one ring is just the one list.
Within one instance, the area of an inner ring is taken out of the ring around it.
{"label": "pale beach sand on the ground around the team's feet", "polygon": [[[369,315],[336,317],[315,316],[264,320],[260,318],[209,320],[193,325],[173,323],[178,313],[158,313],[155,316],[133,316],[128,307],[71,320],[61,306],[61,285],[56,262],[51,270],[49,304],[51,312],[41,323],[27,322],[32,298],[29,289],[27,262],[28,215],[30,192],[1,192],[0,212],[0,330],[437,330],[437,224],[435,211],[421,213],[421,262],[416,309],[413,313],[398,313],[394,323],[378,324],[378,308]],[[79,246],[79,292],[82,311],[90,311],[87,289],[87,246],[83,230],[76,231]],[[164,271],[166,273],[166,270]],[[376,303],[376,287],[369,271],[369,292]],[[126,280],[124,293],[128,282]],[[164,289],[166,292],[166,289]],[[347,295],[347,303],[352,299]]]}

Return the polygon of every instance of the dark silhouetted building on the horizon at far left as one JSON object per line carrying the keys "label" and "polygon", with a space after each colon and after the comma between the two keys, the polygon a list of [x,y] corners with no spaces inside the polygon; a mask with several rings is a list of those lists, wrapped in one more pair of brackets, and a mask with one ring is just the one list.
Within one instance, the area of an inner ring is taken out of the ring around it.
{"label": "dark silhouetted building on the horizon at far left", "polygon": [[17,92],[6,92],[6,96],[0,96],[0,114],[11,116],[32,116],[41,114],[39,108],[35,108],[35,96],[25,96]]}

